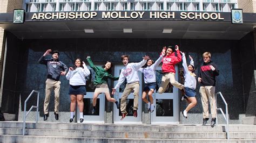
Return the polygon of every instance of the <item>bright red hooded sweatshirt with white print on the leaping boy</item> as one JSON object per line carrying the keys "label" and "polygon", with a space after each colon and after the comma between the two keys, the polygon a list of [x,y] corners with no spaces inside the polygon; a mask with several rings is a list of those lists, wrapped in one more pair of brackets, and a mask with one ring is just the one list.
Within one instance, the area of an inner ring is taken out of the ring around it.
{"label": "bright red hooded sweatshirt with white print on the leaping boy", "polygon": [[177,50],[177,56],[175,55],[176,52],[173,52],[171,55],[166,55],[163,59],[163,66],[162,71],[163,73],[175,73],[175,65],[178,62],[181,62],[181,55],[180,51]]}

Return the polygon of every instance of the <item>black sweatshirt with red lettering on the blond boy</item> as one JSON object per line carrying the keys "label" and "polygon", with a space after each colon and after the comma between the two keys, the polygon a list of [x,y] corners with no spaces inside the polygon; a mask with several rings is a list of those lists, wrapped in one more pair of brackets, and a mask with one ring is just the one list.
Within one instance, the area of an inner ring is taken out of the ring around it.
{"label": "black sweatshirt with red lettering on the blond boy", "polygon": [[[215,70],[212,71],[210,68],[210,65],[212,65]],[[199,71],[199,77],[201,77],[201,87],[204,86],[213,86],[215,87],[215,76],[219,75],[219,69],[213,61],[209,61],[208,63],[203,63],[203,65],[200,66]]]}

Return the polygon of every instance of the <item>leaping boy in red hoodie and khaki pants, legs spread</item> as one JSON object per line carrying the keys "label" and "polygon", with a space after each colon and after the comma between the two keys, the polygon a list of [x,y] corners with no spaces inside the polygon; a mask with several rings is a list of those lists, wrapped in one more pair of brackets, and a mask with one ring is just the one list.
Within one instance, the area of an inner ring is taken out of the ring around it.
{"label": "leaping boy in red hoodie and khaki pants, legs spread", "polygon": [[[164,47],[164,49],[166,49],[166,47]],[[166,49],[166,55],[162,59],[162,71],[164,75],[161,80],[161,85],[158,89],[159,94],[163,94],[163,92],[165,92],[165,90],[168,88],[169,82],[174,87],[179,88],[183,95],[185,94],[184,85],[175,80],[175,65],[181,62],[181,60],[182,57],[179,51],[179,46],[175,45],[175,48],[168,46]]]}

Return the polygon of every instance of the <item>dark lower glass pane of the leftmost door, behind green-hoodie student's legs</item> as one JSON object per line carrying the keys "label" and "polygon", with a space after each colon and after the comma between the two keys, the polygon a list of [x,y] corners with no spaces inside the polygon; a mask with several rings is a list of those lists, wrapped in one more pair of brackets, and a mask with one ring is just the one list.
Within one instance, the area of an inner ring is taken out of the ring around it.
{"label": "dark lower glass pane of the leftmost door, behind green-hoodie student's legs", "polygon": [[[92,115],[91,113],[92,109],[93,109],[92,98],[84,98],[84,115]],[[99,98],[97,98],[97,102],[96,102],[96,113],[95,115],[92,115],[92,116],[99,116]]]}

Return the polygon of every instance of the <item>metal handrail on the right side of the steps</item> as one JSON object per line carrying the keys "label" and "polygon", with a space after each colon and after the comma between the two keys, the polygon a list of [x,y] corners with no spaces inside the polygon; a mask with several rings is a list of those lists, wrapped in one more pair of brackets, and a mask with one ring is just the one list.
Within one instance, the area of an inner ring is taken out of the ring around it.
{"label": "metal handrail on the right side of the steps", "polygon": [[[222,98],[225,106],[226,106],[226,115],[224,114],[223,110],[221,108],[217,108],[217,95],[220,95],[220,97]],[[220,110],[221,114],[224,116],[224,119],[226,120],[226,133],[227,133],[227,139],[230,139],[230,135],[229,135],[229,129],[228,129],[228,110],[227,110],[227,102],[225,101],[223,95],[221,94],[221,92],[217,92],[217,94],[215,94],[215,99],[216,99],[216,110]],[[216,116],[216,125],[218,125],[218,118]]]}

